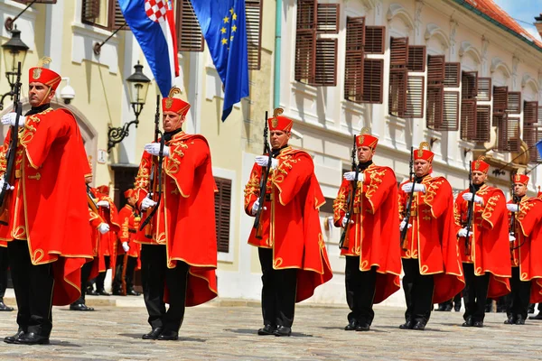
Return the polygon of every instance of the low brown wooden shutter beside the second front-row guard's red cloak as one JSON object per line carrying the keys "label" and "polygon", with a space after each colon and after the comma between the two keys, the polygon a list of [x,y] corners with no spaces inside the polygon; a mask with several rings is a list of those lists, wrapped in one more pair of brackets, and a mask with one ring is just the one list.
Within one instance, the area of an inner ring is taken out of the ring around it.
{"label": "low brown wooden shutter beside the second front-row guard's red cloak", "polygon": [[231,180],[215,177],[215,223],[219,252],[229,252],[229,219],[231,215]]}

